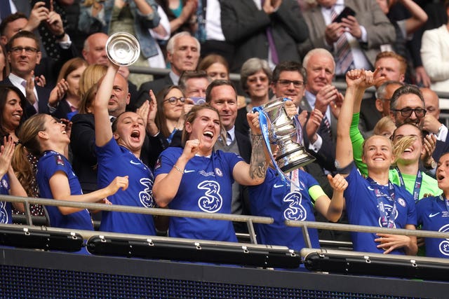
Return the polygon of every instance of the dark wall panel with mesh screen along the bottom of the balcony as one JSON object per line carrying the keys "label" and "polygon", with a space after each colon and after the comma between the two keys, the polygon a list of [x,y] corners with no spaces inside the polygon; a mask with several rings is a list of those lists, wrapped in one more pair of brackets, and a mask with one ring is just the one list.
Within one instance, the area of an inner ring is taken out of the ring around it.
{"label": "dark wall panel with mesh screen along the bottom of the balcony", "polygon": [[0,298],[447,298],[449,284],[0,249]]}

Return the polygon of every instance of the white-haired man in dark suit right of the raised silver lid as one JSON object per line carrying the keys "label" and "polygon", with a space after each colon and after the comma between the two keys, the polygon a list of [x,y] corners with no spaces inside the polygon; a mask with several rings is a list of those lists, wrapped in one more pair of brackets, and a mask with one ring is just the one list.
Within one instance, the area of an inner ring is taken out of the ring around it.
{"label": "white-haired man in dark suit right of the raised silver lid", "polygon": [[139,89],[135,106],[140,106],[148,99],[149,90],[154,95],[168,85],[178,85],[182,71],[194,71],[198,65],[200,44],[189,32],[180,32],[172,36],[167,43],[167,60],[170,73],[163,78],[143,83]]}

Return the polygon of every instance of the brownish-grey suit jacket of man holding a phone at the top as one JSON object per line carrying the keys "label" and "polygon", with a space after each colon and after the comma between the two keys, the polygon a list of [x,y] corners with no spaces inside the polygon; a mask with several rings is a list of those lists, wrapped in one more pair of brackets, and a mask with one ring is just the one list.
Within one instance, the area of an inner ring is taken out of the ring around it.
{"label": "brownish-grey suit jacket of man holding a phone at the top", "polygon": [[[368,43],[361,43],[361,48],[368,61],[374,65],[376,55],[380,52],[380,46],[396,41],[394,26],[382,13],[376,1],[345,0],[344,4],[356,11],[358,23],[366,29]],[[313,48],[326,48],[332,53],[333,46],[328,46],[325,42],[326,23],[321,13],[321,6],[305,11],[303,17],[309,27],[309,39],[300,44],[300,55],[304,57]]]}

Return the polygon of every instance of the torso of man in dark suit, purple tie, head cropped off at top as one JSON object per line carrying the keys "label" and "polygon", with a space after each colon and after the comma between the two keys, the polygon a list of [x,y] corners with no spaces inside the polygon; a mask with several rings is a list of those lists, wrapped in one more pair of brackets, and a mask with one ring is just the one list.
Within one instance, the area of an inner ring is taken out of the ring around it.
{"label": "torso of man in dark suit, purple tie, head cropped off at top", "polygon": [[235,48],[231,71],[240,72],[251,57],[267,60],[272,68],[300,60],[296,45],[308,34],[297,1],[221,1],[220,7],[223,34]]}

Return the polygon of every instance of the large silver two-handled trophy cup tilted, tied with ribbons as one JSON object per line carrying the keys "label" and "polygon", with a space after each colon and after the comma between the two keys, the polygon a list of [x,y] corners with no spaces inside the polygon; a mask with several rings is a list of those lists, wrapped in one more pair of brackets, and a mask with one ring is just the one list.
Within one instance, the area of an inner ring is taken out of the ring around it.
{"label": "large silver two-handled trophy cup tilted, tied with ribbons", "polygon": [[[285,102],[279,97],[262,106],[269,119],[269,141],[276,143],[279,150],[276,155],[276,163],[283,172],[291,172],[311,162],[315,158],[307,153],[300,140],[297,138],[297,127],[287,114]],[[299,122],[297,122],[299,125]],[[302,131],[302,130],[301,130]],[[299,137],[302,139],[302,137]]]}

